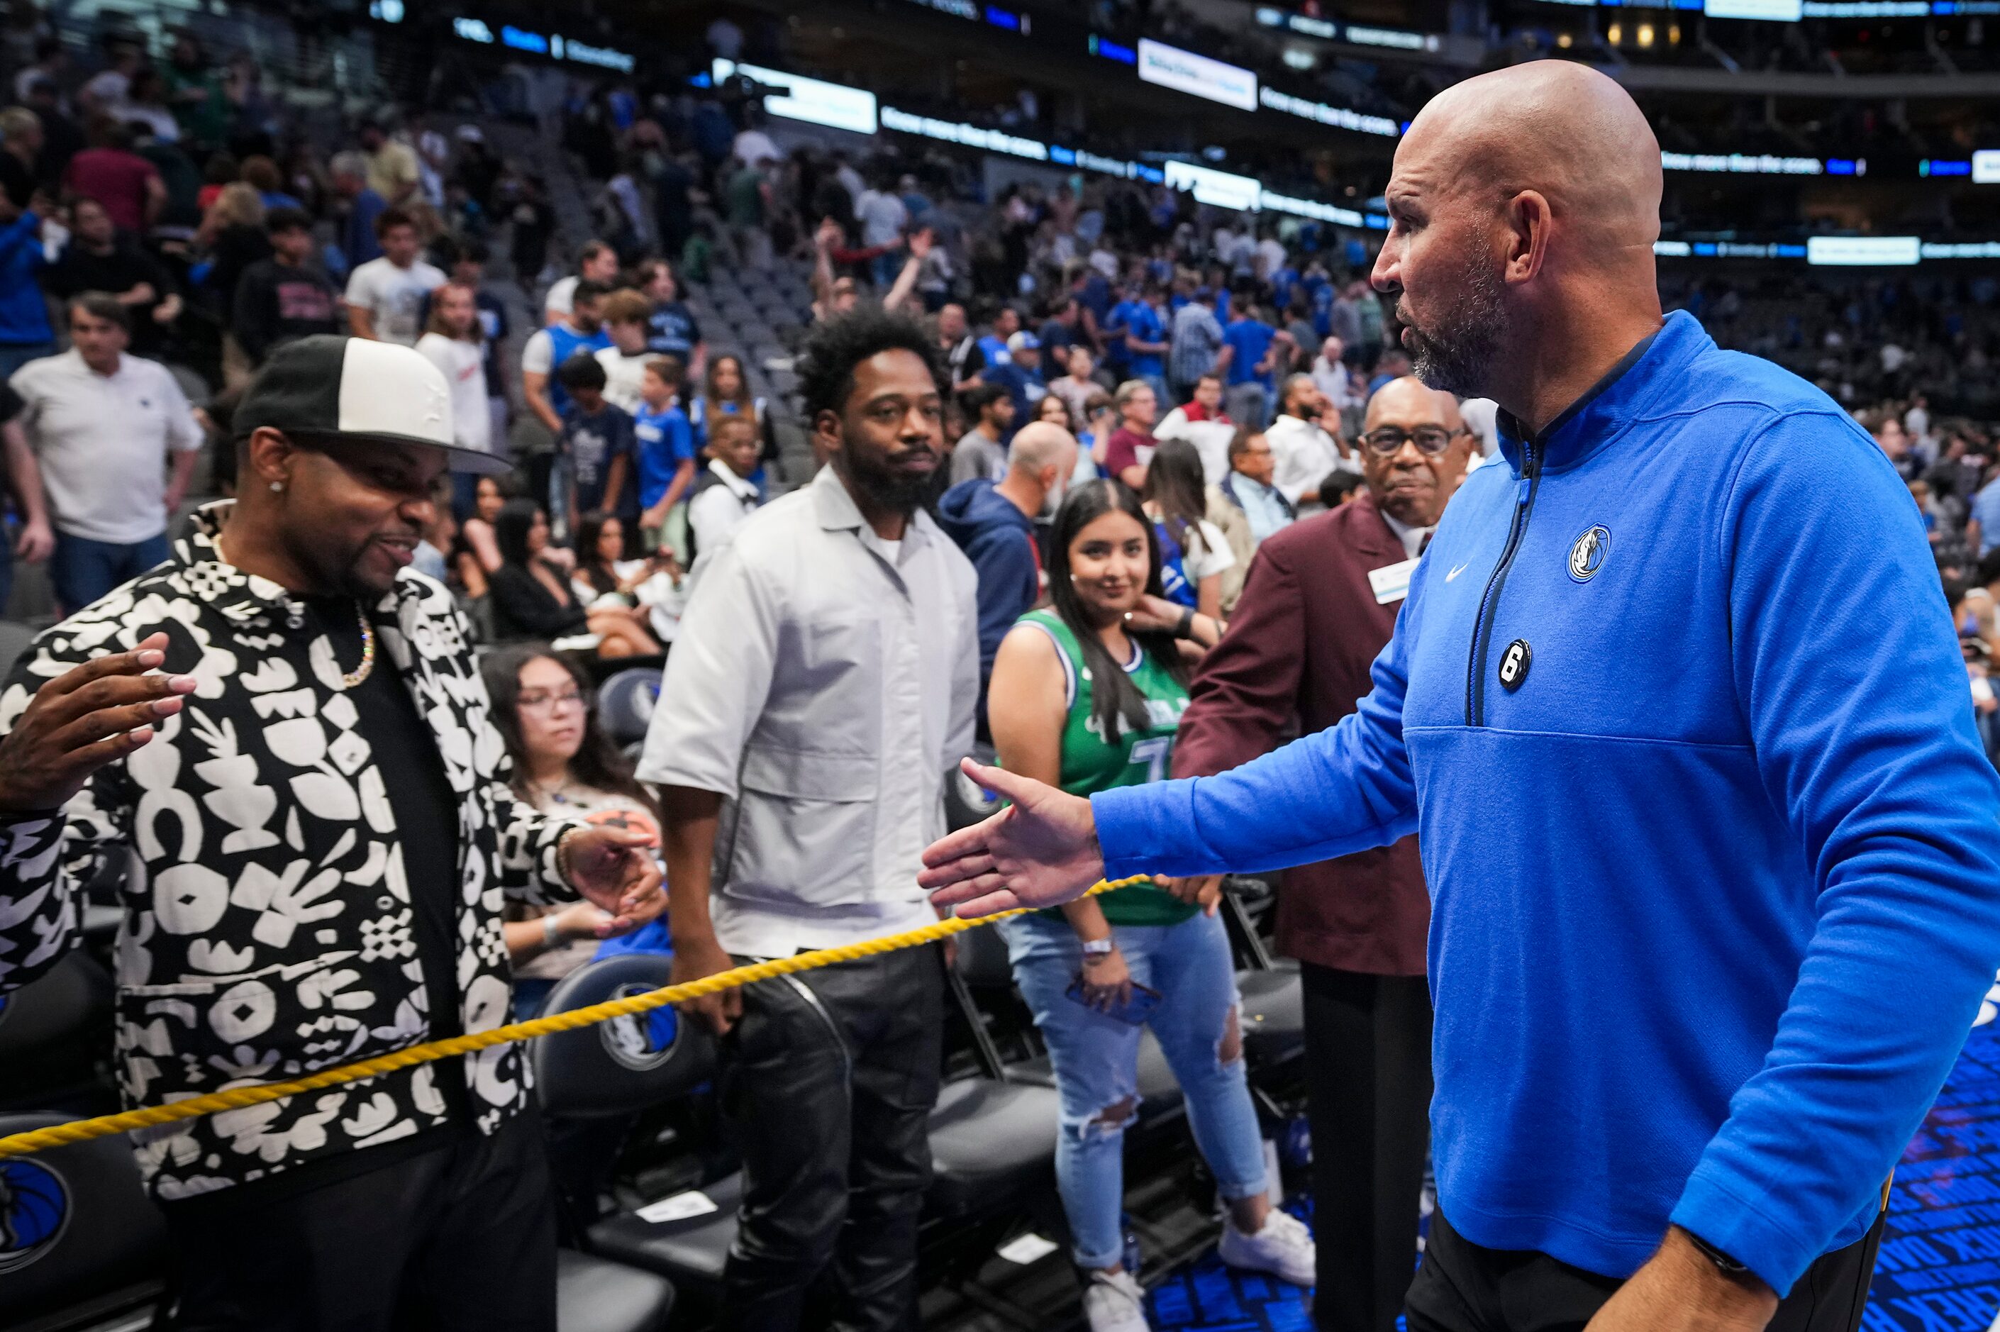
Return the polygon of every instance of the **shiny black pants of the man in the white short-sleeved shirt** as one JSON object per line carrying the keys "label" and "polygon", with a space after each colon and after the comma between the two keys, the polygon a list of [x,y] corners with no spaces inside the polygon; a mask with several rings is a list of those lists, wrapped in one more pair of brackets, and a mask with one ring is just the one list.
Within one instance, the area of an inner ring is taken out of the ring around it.
{"label": "shiny black pants of the man in the white short-sleeved shirt", "polygon": [[744,1156],[724,1328],[916,1326],[940,960],[936,946],[906,948],[744,990],[724,1042],[722,1096]]}

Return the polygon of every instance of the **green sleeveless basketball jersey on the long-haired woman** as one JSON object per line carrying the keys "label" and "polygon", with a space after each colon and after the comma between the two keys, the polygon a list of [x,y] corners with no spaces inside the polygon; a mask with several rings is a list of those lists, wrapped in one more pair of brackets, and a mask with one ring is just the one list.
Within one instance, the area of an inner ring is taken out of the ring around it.
{"label": "green sleeveless basketball jersey on the long-haired woman", "polygon": [[[1174,758],[1174,732],[1180,728],[1180,714],[1188,710],[1186,686],[1134,642],[1134,660],[1126,662],[1126,674],[1146,700],[1146,726],[1142,730],[1120,726],[1118,738],[1106,740],[1092,714],[1090,668],[1084,664],[1084,648],[1076,642],[1076,634],[1052,610],[1030,610],[1020,622],[1048,634],[1056,644],[1056,656],[1062,658],[1064,694],[1070,700],[1070,712],[1062,722],[1062,790],[1090,796],[1114,786],[1164,782]],[[1106,920],[1126,926],[1180,924],[1198,910],[1152,884],[1108,892],[1098,904]]]}

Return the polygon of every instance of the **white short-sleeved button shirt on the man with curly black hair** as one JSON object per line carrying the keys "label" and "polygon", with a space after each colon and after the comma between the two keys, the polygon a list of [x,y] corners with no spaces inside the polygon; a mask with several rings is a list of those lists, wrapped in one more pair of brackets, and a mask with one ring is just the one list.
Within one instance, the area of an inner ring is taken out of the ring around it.
{"label": "white short-sleeved button shirt on the man with curly black hair", "polygon": [[916,872],[978,692],[978,576],[922,510],[884,542],[828,466],[704,550],[638,776],[724,796],[722,948],[936,920]]}

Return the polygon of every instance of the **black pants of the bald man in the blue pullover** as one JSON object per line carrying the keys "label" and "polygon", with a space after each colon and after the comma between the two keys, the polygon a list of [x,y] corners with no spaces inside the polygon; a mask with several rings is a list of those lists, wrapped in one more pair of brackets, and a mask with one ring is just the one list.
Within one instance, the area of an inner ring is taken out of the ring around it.
{"label": "black pants of the bald man in the blue pullover", "polygon": [[[1766,1332],[1854,1332],[1886,1218],[1806,1268]],[[1590,1322],[1622,1284],[1548,1254],[1482,1248],[1436,1212],[1410,1286],[1410,1332],[1568,1332]]]}

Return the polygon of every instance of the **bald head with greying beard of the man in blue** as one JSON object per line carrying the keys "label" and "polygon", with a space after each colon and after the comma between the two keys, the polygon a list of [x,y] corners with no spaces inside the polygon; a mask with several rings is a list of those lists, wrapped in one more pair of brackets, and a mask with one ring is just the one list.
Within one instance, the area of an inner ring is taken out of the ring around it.
{"label": "bald head with greying beard of the man in blue", "polygon": [[1402,342],[1432,388],[1546,420],[1540,398],[1574,398],[1588,380],[1570,376],[1660,326],[1660,144],[1588,66],[1446,88],[1396,146],[1386,200],[1374,284],[1402,294]]}

